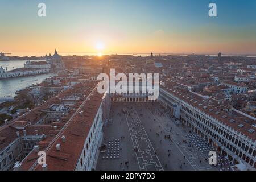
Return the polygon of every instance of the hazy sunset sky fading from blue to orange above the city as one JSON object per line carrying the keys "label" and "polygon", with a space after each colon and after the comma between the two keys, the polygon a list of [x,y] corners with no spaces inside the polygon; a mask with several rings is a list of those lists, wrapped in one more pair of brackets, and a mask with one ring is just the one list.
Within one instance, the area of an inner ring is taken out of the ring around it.
{"label": "hazy sunset sky fading from blue to orange above the city", "polygon": [[0,0],[0,24],[0,52],[15,55],[256,53],[255,0]]}

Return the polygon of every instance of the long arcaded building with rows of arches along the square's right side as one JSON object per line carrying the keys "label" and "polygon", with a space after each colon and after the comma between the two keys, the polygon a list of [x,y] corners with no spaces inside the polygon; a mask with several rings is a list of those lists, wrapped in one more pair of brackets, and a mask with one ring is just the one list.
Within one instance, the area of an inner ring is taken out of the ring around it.
{"label": "long arcaded building with rows of arches along the square's right side", "polygon": [[[205,138],[216,151],[228,156],[234,163],[244,163],[249,168],[256,168],[256,126],[251,126],[244,134],[226,123],[238,123],[236,118],[228,118],[219,111],[209,109],[203,102],[171,88],[160,88],[159,102],[172,111],[175,105],[181,106],[180,121]],[[218,116],[219,115],[219,116]],[[225,119],[225,121],[224,121]],[[237,127],[245,127],[239,123]]]}

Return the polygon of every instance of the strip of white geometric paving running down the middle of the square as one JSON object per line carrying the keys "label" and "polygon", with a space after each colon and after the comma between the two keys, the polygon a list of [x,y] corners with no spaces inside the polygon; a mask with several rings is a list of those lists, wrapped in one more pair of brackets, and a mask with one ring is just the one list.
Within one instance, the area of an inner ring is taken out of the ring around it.
{"label": "strip of white geometric paving running down the middle of the square", "polygon": [[133,107],[123,107],[130,136],[141,171],[163,171],[142,122]]}

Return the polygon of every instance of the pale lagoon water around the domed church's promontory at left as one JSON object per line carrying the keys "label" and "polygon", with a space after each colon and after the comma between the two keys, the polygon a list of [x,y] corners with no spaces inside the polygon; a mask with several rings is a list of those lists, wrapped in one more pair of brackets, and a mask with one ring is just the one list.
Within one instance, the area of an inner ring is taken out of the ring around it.
{"label": "pale lagoon water around the domed church's promontory at left", "polygon": [[[42,60],[34,60],[34,61],[42,61]],[[21,61],[0,61],[0,65],[10,71],[16,68],[23,68],[26,60]],[[16,78],[7,78],[0,80],[0,97],[11,96],[15,97],[16,90],[24,89],[27,86],[31,86],[32,84],[39,84],[44,79],[48,77],[55,76],[55,73],[47,73],[43,75],[35,75],[35,76],[26,76],[26,77],[16,77]]]}

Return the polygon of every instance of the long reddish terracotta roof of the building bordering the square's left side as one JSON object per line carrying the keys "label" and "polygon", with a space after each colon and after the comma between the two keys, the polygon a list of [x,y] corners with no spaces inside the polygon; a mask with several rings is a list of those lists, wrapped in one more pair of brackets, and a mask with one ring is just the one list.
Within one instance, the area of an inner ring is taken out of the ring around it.
{"label": "long reddish terracotta roof of the building bordering the square's left side", "polygon": [[[97,90],[94,90],[92,94],[46,151],[48,170],[69,171],[75,169],[102,101],[103,95],[98,94]],[[83,113],[80,113],[81,111]],[[65,143],[61,142],[63,135],[67,138]],[[61,144],[60,151],[56,151],[57,143]],[[41,166],[36,166],[34,169],[41,170]]]}

